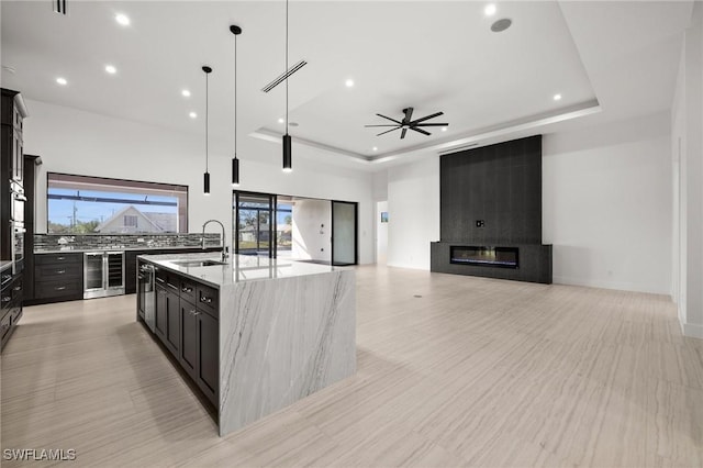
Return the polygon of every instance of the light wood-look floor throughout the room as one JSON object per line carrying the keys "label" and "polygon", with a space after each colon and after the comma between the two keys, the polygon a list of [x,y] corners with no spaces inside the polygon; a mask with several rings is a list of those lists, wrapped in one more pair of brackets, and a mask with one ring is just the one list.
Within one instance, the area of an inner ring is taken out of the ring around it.
{"label": "light wood-look floor throughout the room", "polygon": [[100,467],[703,465],[703,342],[668,298],[373,266],[357,291],[357,375],[226,438],[134,296],[26,308],[2,448]]}

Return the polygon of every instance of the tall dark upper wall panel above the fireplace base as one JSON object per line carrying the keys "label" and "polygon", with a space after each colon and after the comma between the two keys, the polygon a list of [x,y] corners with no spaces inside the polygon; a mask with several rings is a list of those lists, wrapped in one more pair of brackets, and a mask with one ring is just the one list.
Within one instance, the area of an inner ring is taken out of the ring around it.
{"label": "tall dark upper wall panel above the fireplace base", "polygon": [[542,135],[442,156],[439,174],[443,242],[542,244]]}

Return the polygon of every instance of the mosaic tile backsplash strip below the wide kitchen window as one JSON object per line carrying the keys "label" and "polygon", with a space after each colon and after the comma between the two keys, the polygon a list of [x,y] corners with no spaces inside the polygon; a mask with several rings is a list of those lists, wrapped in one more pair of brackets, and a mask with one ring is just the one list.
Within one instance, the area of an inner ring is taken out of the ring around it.
{"label": "mosaic tile backsplash strip below the wide kitchen window", "polygon": [[[205,233],[205,247],[220,247],[221,235]],[[169,247],[200,247],[201,233],[192,234],[113,234],[113,235],[60,235],[34,234],[34,252],[52,250],[107,250],[130,248],[169,248]]]}

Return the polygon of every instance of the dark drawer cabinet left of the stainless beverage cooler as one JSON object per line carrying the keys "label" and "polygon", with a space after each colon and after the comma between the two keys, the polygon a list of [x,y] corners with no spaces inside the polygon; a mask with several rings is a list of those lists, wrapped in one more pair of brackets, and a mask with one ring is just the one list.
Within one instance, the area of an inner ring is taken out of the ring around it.
{"label": "dark drawer cabinet left of the stainless beverage cooler", "polygon": [[83,254],[34,256],[33,303],[60,302],[83,297]]}

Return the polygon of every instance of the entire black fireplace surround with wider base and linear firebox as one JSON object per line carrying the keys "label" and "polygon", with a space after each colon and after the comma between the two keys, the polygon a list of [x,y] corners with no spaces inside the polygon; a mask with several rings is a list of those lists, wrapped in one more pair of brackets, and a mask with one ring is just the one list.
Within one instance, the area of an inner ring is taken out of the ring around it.
{"label": "entire black fireplace surround with wider base and linear firebox", "polygon": [[542,135],[439,159],[440,241],[431,270],[551,283],[542,244]]}

